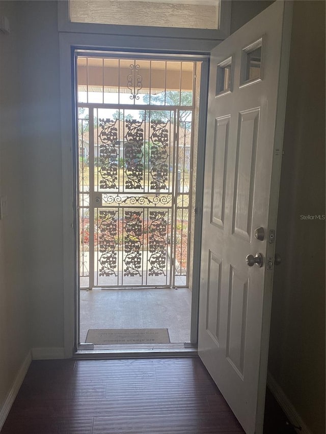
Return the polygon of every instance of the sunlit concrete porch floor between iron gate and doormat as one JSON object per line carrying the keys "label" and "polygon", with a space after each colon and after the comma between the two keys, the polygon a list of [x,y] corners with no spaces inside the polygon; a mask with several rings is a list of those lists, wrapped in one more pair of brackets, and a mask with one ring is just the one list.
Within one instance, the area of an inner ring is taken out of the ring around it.
{"label": "sunlit concrete porch floor between iron gate and doormat", "polygon": [[168,328],[172,343],[189,342],[188,288],[127,288],[80,291],[80,342],[89,329]]}

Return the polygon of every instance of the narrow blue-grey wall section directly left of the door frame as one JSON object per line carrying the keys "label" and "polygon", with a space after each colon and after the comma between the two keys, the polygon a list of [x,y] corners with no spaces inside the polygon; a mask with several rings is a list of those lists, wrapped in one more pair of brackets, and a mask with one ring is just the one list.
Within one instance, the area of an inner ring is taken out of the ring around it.
{"label": "narrow blue-grey wall section directly left of the door frame", "polygon": [[25,261],[32,348],[63,347],[63,224],[57,2],[19,2]]}

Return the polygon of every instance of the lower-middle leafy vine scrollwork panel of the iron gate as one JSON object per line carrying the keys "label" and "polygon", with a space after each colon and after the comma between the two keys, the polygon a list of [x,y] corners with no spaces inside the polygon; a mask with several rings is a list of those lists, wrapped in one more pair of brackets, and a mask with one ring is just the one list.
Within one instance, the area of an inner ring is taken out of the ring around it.
{"label": "lower-middle leafy vine scrollwork panel of the iron gate", "polygon": [[141,237],[143,235],[143,211],[125,211],[125,237],[124,250],[126,256],[123,260],[125,264],[124,276],[141,276],[142,267],[142,247]]}

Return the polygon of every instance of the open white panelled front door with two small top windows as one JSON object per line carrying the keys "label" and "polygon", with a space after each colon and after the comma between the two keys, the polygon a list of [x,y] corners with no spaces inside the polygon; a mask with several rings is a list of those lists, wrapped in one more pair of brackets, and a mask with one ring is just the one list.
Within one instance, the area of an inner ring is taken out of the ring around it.
{"label": "open white panelled front door with two small top windows", "polygon": [[210,62],[198,349],[248,434],[263,424],[290,27],[277,1]]}

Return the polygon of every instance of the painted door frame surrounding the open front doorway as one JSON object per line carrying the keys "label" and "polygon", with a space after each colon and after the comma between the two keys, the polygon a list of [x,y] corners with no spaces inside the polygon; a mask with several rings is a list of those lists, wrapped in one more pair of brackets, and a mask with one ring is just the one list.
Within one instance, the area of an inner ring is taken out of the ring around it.
{"label": "painted door frame surrounding the open front doorway", "polygon": [[[154,40],[153,40],[154,39]],[[110,46],[108,45],[110,41]],[[75,56],[76,49],[101,50],[116,52],[138,52],[170,56],[177,60],[178,56],[192,61],[202,62],[201,98],[198,123],[198,156],[196,180],[196,215],[194,245],[201,244],[202,223],[202,191],[204,186],[204,157],[206,139],[206,109],[208,91],[209,47],[219,41],[192,40],[194,51],[184,49],[185,42],[181,39],[110,36],[87,33],[60,33],[60,96],[61,96],[61,146],[62,146],[62,183],[63,183],[63,289],[64,289],[64,356],[71,358],[77,353],[77,339],[79,331],[79,307],[77,297],[77,185],[76,185],[76,118],[75,118]],[[187,43],[189,39],[187,39]],[[188,44],[187,44],[188,45]],[[203,51],[207,49],[207,51]],[[192,313],[191,313],[191,343],[197,344],[198,335],[198,307],[200,282],[200,248],[194,251],[193,285],[192,285]],[[176,350],[173,350],[176,354]],[[89,350],[87,351],[89,352]],[[99,354],[98,351],[96,351]],[[110,352],[103,351],[100,355]],[[144,356],[144,351],[141,353]],[[147,353],[153,357],[153,352]],[[159,351],[159,355],[165,353]],[[171,355],[171,352],[167,352]],[[187,353],[182,353],[187,354]],[[128,353],[130,356],[130,352]],[[137,353],[133,353],[133,356]],[[117,354],[116,354],[117,356]],[[118,354],[123,357],[123,353]]]}

